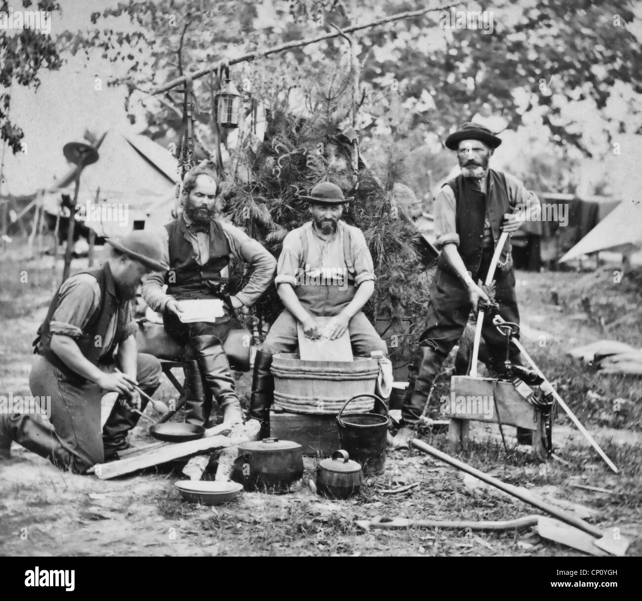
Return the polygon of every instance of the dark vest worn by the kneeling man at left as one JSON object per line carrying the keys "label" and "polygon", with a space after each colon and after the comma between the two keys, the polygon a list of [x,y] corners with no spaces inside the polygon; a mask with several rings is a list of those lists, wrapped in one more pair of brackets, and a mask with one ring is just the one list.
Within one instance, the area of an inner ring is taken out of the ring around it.
{"label": "dark vest worn by the kneeling man at left", "polygon": [[[91,361],[94,365],[110,363],[114,348],[116,348],[116,344],[123,334],[124,326],[124,312],[119,312],[120,303],[116,297],[116,285],[112,278],[111,269],[109,268],[109,264],[105,263],[102,267],[80,271],[79,273],[88,273],[96,278],[96,282],[98,282],[98,287],[100,288],[100,304],[98,305],[98,309],[89,316],[89,321],[87,321],[87,324],[83,328],[80,338],[74,340],[76,344],[78,344],[78,348],[80,348],[85,359]],[[67,377],[80,378],[83,380],[84,378],[74,372],[73,369],[67,367],[60,357],[51,350],[51,330],[49,329],[49,324],[51,323],[53,314],[58,308],[58,292],[60,292],[60,288],[58,288],[58,291],[56,291],[56,294],[51,300],[47,316],[38,328],[38,337],[33,341],[33,346],[35,347],[33,352],[46,357],[49,363],[55,365],[56,368],[60,369]],[[110,348],[105,349],[103,353],[102,343],[105,341],[107,328],[114,313],[118,314],[116,332],[110,343]]]}

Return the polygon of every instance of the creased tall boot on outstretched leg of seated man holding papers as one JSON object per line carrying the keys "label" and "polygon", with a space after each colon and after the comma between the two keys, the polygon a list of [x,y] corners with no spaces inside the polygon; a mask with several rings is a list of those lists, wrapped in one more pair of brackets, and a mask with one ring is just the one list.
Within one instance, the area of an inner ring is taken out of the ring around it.
{"label": "creased tall boot on outstretched leg of seated man holding papers", "polygon": [[[213,335],[201,335],[195,336],[190,342],[194,346],[205,385],[223,410],[223,423],[242,423],[241,403],[234,389],[234,378],[220,339]],[[204,411],[204,417],[207,421],[209,412],[206,414]],[[200,425],[205,425],[205,421]]]}

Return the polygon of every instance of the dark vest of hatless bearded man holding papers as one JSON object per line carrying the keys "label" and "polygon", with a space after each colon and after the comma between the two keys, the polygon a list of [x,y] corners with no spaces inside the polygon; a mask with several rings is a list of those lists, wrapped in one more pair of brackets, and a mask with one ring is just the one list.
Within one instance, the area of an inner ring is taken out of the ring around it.
{"label": "dark vest of hatless bearded man holding papers", "polygon": [[230,246],[223,228],[214,219],[209,225],[209,259],[205,265],[196,256],[182,217],[165,226],[169,235],[169,271],[165,275],[167,293],[177,298],[227,296],[229,278],[221,271],[229,265]]}

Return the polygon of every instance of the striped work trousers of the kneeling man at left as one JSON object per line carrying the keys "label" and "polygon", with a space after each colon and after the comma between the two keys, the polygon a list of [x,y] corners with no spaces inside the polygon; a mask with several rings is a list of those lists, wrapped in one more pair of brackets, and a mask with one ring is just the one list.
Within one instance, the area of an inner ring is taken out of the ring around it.
{"label": "striped work trousers of the kneeling man at left", "polygon": [[[113,371],[113,368],[104,369]],[[158,386],[160,361],[156,357],[139,353],[136,371],[136,380],[142,389]],[[107,391],[84,378],[65,376],[41,355],[33,362],[29,386],[33,396],[51,396],[49,421],[54,427],[54,436],[67,450],[64,457],[52,457],[51,461],[74,473],[84,473],[96,463],[103,463],[105,457],[100,414],[101,398]],[[20,419],[37,418],[25,414]],[[112,427],[108,419],[105,431]]]}

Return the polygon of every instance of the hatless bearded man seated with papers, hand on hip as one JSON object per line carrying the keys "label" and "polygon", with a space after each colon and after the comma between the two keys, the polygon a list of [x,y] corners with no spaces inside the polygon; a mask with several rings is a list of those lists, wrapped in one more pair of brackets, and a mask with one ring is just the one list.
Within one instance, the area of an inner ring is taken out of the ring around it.
{"label": "hatless bearded man seated with papers, hand on hip", "polygon": [[[153,273],[143,285],[143,299],[162,312],[166,331],[195,353],[186,362],[186,421],[205,426],[212,401],[223,412],[223,422],[243,421],[223,343],[236,327],[234,314],[252,307],[272,282],[276,261],[259,242],[225,221],[214,219],[218,189],[216,173],[198,166],[183,181],[183,212],[160,228],[158,235],[169,269]],[[235,296],[229,295],[229,263],[234,257],[247,263],[252,275]],[[163,285],[167,285],[164,291]],[[219,299],[225,315],[214,323],[182,323],[181,300]],[[203,383],[203,384],[201,384]]]}

